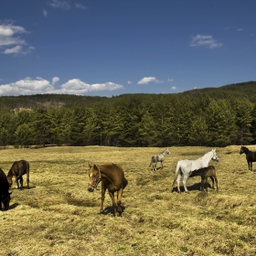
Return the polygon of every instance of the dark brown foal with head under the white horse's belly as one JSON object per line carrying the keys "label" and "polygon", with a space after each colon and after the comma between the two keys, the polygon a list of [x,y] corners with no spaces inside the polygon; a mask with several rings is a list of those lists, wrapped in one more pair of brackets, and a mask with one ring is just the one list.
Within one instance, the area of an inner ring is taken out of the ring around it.
{"label": "dark brown foal with head under the white horse's belly", "polygon": [[[215,180],[217,191],[219,190],[218,179],[216,176],[216,169],[213,165],[208,165],[208,167],[191,171],[189,176],[201,176],[201,187],[200,187],[201,191],[205,191],[205,185],[208,184],[208,177],[212,181],[212,188],[214,189],[214,180]],[[208,186],[206,186],[206,190],[208,191]]]}

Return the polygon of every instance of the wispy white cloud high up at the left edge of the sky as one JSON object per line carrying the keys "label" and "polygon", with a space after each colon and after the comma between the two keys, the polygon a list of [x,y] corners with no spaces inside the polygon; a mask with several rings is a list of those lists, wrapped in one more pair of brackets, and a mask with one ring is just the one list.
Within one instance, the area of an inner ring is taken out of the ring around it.
{"label": "wispy white cloud high up at the left edge of the sky", "polygon": [[24,27],[14,26],[13,24],[0,23],[0,47],[5,54],[27,54],[32,47],[27,47],[27,42],[16,35],[27,34]]}

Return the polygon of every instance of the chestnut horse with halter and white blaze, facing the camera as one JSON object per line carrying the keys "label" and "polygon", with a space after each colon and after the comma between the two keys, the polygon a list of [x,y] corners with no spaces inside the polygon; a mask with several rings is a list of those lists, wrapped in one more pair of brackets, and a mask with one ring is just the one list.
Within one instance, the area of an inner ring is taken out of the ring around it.
{"label": "chestnut horse with halter and white blaze, facing the camera", "polygon": [[[101,210],[103,212],[103,203],[105,198],[106,189],[108,189],[110,196],[112,197],[113,215],[116,216],[116,212],[121,215],[121,198],[123,195],[123,189],[127,186],[128,181],[124,177],[123,168],[120,165],[106,163],[101,165],[90,165],[89,171],[89,185],[88,190],[93,192],[95,188],[101,182]],[[114,199],[114,192],[117,192],[117,207]]]}

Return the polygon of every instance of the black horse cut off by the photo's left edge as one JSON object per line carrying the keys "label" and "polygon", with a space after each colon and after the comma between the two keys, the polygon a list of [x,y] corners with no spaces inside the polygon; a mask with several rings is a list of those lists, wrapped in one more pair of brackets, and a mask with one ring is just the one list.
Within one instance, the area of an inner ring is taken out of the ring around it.
{"label": "black horse cut off by the photo's left edge", "polygon": [[5,210],[9,208],[12,193],[9,193],[9,184],[4,171],[0,168],[0,210],[2,210],[2,203]]}

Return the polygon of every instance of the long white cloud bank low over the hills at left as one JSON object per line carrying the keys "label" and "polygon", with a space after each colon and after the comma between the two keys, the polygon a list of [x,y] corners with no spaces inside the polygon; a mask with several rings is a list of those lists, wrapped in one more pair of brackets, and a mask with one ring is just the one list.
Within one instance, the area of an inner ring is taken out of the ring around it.
{"label": "long white cloud bank low over the hills at left", "polygon": [[63,83],[59,89],[55,87],[59,81],[58,77],[54,77],[50,81],[37,77],[33,80],[29,77],[23,80],[18,80],[9,84],[0,85],[0,95],[31,95],[45,93],[63,93],[83,95],[90,91],[114,91],[123,89],[123,85],[116,84],[111,81],[105,83],[89,84],[79,79],[68,80]]}

